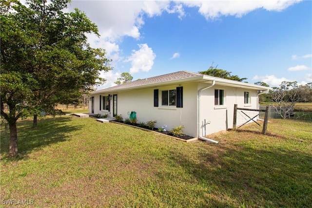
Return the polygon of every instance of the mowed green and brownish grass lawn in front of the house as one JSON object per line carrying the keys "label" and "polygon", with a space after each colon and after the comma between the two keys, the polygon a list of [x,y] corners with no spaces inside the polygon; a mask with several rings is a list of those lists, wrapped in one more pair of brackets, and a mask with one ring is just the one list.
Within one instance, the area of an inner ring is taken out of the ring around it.
{"label": "mowed green and brownish grass lawn in front of the house", "polygon": [[[311,122],[270,119],[185,143],[92,118],[20,121],[19,157],[1,126],[1,200],[36,207],[310,207]],[[2,201],[1,201],[2,202]],[[2,205],[4,206],[4,205]]]}

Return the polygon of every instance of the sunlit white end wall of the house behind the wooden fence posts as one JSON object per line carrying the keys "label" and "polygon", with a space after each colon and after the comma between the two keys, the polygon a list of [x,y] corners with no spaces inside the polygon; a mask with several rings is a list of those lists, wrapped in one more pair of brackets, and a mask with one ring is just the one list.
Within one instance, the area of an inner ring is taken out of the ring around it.
{"label": "sunlit white end wall of the house behind the wooden fence posts", "polygon": [[[205,87],[205,85],[200,84],[198,89],[202,87]],[[224,105],[222,106],[215,105],[215,89],[224,90]],[[244,104],[244,92],[249,92],[249,104]],[[215,85],[201,92],[199,102],[199,135],[202,136],[204,135],[204,119],[206,119],[206,122],[210,123],[206,125],[206,135],[228,130],[229,128],[231,129],[233,128],[234,104],[237,104],[238,108],[256,109],[258,98],[256,90]],[[241,116],[240,119],[237,119],[237,125],[246,121],[247,120]]]}

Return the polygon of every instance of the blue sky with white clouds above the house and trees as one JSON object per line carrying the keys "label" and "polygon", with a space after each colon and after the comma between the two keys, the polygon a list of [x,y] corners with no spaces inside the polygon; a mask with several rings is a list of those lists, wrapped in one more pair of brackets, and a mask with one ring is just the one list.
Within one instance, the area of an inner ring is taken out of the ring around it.
{"label": "blue sky with white clouds above the house and trees", "polygon": [[122,72],[134,79],[212,63],[249,83],[312,82],[312,1],[107,1],[73,0],[98,25],[114,69],[98,89]]}

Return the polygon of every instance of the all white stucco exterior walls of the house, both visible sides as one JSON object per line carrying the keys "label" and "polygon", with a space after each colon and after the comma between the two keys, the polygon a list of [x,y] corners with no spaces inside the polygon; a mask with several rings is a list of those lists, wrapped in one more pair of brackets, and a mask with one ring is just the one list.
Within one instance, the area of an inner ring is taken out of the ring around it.
{"label": "all white stucco exterior walls of the house, both visible sides", "polygon": [[[238,108],[256,109],[258,103],[257,91],[243,88],[214,85],[211,88],[201,91],[198,97],[198,90],[208,87],[211,84],[205,83],[181,83],[180,85],[159,86],[154,88],[109,92],[100,94],[102,96],[117,94],[117,114],[128,118],[131,111],[137,113],[137,122],[157,121],[156,128],[167,125],[166,130],[183,125],[183,133],[190,136],[204,136],[204,119],[210,124],[206,125],[206,135],[233,128],[234,104]],[[183,108],[161,106],[161,91],[173,90],[176,87],[183,87]],[[158,107],[154,107],[154,90],[158,89]],[[224,90],[224,105],[215,106],[215,89]],[[249,92],[250,103],[244,104],[244,92]],[[94,94],[94,113],[101,115],[109,114],[113,117],[113,100],[110,102],[110,112],[100,110],[99,94]],[[199,103],[198,103],[198,102]],[[101,101],[102,103],[102,101]],[[197,108],[199,104],[199,116]],[[91,105],[89,105],[91,113]],[[243,117],[237,120],[237,125],[246,122]],[[199,125],[198,125],[199,123]],[[197,129],[198,127],[198,129]]]}

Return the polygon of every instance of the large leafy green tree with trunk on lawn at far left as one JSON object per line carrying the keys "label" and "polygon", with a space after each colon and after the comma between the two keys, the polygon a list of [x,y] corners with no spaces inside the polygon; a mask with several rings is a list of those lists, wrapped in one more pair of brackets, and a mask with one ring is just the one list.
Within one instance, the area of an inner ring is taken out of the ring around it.
{"label": "large leafy green tree with trunk on lawn at far left", "polygon": [[20,117],[70,103],[111,69],[105,50],[91,48],[86,34],[97,25],[70,0],[1,0],[1,116],[10,127],[9,156],[18,153]]}

